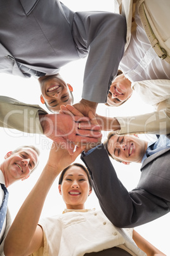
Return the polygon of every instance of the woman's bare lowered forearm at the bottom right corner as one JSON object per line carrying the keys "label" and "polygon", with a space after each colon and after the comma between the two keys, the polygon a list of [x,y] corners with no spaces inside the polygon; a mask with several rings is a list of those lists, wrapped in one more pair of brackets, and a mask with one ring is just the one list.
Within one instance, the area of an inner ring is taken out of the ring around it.
{"label": "woman's bare lowered forearm at the bottom right corner", "polygon": [[[133,231],[133,240],[136,245],[143,250],[143,252],[147,253],[147,256],[160,256],[165,255],[164,253],[160,252],[154,245],[149,243],[145,238],[140,236],[138,232]],[[165,255],[166,256],[166,255]]]}

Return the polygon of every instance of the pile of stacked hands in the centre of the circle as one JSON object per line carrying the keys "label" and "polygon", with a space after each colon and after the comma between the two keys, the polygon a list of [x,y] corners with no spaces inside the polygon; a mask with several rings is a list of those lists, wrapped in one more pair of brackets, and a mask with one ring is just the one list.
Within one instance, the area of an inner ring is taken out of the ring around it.
{"label": "pile of stacked hands in the centre of the circle", "polygon": [[88,151],[101,143],[102,134],[95,111],[96,107],[80,102],[74,106],[62,105],[59,114],[40,115],[39,119],[44,135],[55,141],[56,147],[60,146],[72,155],[76,146]]}

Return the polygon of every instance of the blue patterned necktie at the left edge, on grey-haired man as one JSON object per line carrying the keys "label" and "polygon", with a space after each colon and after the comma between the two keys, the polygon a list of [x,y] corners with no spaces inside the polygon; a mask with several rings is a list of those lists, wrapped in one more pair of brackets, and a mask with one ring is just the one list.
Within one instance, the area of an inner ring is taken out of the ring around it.
{"label": "blue patterned necktie at the left edge, on grey-haired man", "polygon": [[1,188],[4,190],[4,199],[3,199],[3,203],[1,204],[1,207],[0,207],[0,232],[3,228],[4,219],[6,217],[8,194],[9,194],[9,192],[4,184],[1,184]]}

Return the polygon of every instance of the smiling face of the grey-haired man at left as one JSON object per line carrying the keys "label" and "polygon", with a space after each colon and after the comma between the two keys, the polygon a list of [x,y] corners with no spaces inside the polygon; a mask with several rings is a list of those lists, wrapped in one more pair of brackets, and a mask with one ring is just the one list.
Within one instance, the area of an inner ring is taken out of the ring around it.
{"label": "smiling face of the grey-haired man at left", "polygon": [[39,159],[37,152],[32,148],[22,148],[16,153],[10,152],[5,158],[5,173],[11,181],[28,178]]}

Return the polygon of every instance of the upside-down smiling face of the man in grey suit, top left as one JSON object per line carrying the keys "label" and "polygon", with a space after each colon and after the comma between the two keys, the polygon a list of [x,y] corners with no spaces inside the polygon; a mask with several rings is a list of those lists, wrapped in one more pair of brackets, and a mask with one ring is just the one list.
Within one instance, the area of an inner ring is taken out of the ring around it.
{"label": "upside-down smiling face of the man in grey suit, top left", "polygon": [[62,80],[60,75],[42,76],[42,78],[39,78],[39,83],[41,97],[43,97],[50,111],[58,113],[61,105],[72,105],[71,87]]}

